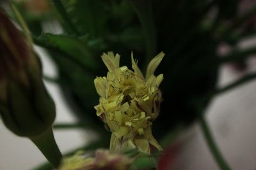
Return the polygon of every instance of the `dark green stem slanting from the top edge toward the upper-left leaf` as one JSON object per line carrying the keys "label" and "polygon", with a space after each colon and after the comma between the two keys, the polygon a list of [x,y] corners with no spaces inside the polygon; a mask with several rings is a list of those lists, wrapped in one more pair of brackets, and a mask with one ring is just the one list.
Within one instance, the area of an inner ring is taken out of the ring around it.
{"label": "dark green stem slanting from the top edge toward the upper-left leaf", "polygon": [[77,31],[75,25],[72,23],[72,21],[70,20],[67,11],[65,10],[61,0],[52,0],[52,3],[54,4],[56,10],[58,11],[58,14],[60,15],[61,19],[63,20],[63,22],[65,22],[65,25],[67,26],[67,28],[74,32],[74,34],[79,34],[79,32]]}

